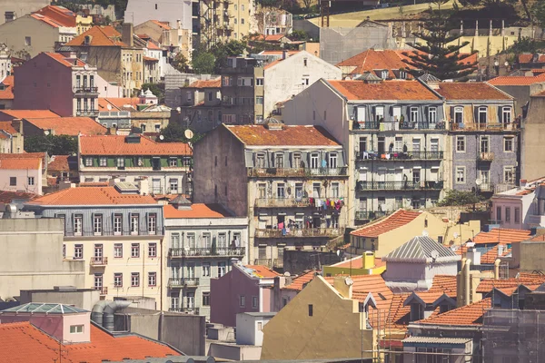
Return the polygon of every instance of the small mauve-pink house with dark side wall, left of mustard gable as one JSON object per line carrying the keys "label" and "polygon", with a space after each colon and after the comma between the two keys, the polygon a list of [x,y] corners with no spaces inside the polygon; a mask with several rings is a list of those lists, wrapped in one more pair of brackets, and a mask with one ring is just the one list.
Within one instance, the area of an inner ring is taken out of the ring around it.
{"label": "small mauve-pink house with dark side wall, left of mustard gable", "polygon": [[264,266],[233,264],[219,279],[210,280],[210,321],[236,326],[236,314],[271,311],[271,295],[277,272]]}

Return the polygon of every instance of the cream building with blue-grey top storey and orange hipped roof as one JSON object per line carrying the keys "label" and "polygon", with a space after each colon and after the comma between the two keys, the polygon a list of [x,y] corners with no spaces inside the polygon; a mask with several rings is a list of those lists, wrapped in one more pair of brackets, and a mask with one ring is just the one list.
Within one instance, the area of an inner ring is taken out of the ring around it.
{"label": "cream building with blue-grey top storey and orange hipped roof", "polygon": [[85,261],[85,288],[104,299],[147,297],[160,307],[163,208],[134,185],[68,188],[25,203],[64,220],[63,257]]}

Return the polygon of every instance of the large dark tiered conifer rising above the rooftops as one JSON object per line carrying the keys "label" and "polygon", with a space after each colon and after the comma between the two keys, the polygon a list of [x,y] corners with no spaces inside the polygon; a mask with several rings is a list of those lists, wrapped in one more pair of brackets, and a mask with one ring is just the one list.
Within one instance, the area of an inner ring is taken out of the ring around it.
{"label": "large dark tiered conifer rising above the rooftops", "polygon": [[460,79],[477,69],[477,62],[466,61],[476,51],[471,54],[460,54],[461,48],[470,42],[453,43],[461,34],[449,34],[455,26],[441,15],[441,4],[445,2],[446,0],[434,2],[439,9],[437,11],[430,9],[432,18],[422,25],[425,31],[414,33],[424,43],[411,44],[415,50],[411,53],[403,52],[409,58],[403,59],[403,62],[411,65],[411,68],[405,70],[413,76],[419,77],[421,74],[429,73],[441,80]]}

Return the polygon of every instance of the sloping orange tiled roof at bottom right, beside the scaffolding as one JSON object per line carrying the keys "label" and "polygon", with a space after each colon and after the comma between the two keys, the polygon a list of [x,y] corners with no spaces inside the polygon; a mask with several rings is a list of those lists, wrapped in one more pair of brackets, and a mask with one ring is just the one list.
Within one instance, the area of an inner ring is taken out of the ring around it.
{"label": "sloping orange tiled roof at bottom right, beside the scaffolding", "polygon": [[416,321],[417,324],[433,325],[461,325],[478,326],[482,325],[482,316],[487,309],[491,308],[491,299],[481,299],[470,305],[458,309],[452,309],[439,315],[431,316],[427,319]]}

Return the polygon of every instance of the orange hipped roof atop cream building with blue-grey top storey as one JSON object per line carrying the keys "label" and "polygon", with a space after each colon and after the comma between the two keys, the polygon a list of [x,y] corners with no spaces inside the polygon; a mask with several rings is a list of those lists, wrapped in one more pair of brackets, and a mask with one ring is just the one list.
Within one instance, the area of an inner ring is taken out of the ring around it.
{"label": "orange hipped roof atop cream building with blue-grey top storey", "polygon": [[157,204],[150,195],[122,194],[114,187],[68,188],[40,197],[35,205]]}

